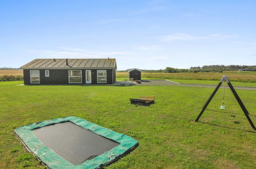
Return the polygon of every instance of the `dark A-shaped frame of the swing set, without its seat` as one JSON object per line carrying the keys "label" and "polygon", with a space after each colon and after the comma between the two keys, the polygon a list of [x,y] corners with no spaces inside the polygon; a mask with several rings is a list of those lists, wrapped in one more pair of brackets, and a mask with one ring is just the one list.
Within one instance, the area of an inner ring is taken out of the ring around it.
{"label": "dark A-shaped frame of the swing set, without its seat", "polygon": [[250,117],[249,117],[249,113],[247,111],[247,109],[245,108],[244,103],[242,102],[242,100],[240,99],[240,97],[238,96],[237,92],[235,92],[234,87],[232,86],[231,82],[229,81],[228,77],[226,75],[223,75],[221,81],[219,82],[218,86],[214,89],[214,91],[212,92],[212,94],[210,95],[210,97],[208,98],[208,100],[206,101],[206,103],[204,104],[204,107],[202,108],[202,111],[200,112],[200,114],[198,115],[198,118],[195,119],[195,122],[197,122],[201,115],[204,113],[205,109],[207,108],[207,105],[210,103],[211,99],[213,98],[213,96],[215,95],[215,93],[218,91],[218,89],[220,88],[221,84],[226,81],[230,90],[232,91],[235,99],[237,99],[241,109],[243,110],[247,120],[249,121],[249,123],[251,124],[252,129],[256,130],[254,124],[252,123]]}

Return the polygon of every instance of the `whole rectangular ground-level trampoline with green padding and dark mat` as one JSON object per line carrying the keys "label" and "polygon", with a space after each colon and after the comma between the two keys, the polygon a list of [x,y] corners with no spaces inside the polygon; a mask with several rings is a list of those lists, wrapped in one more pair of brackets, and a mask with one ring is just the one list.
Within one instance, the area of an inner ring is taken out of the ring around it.
{"label": "whole rectangular ground-level trampoline with green padding and dark mat", "polygon": [[15,129],[26,148],[49,168],[100,168],[129,153],[133,138],[77,117]]}

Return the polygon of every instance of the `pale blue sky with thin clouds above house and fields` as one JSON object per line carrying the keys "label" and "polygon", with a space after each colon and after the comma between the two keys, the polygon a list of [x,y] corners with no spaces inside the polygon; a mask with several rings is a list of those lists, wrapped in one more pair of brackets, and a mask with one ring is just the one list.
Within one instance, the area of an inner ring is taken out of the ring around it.
{"label": "pale blue sky with thin clouds above house and fields", "polygon": [[116,58],[117,70],[256,65],[256,1],[2,1],[0,67]]}

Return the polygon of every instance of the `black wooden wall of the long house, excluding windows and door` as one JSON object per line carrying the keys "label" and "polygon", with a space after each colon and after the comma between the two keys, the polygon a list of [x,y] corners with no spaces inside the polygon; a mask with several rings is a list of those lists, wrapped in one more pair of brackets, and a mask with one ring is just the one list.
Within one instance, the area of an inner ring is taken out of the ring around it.
{"label": "black wooden wall of the long house, excluding windows and door", "polygon": [[[38,69],[24,69],[24,85],[83,85],[85,82],[85,69],[82,69],[82,83],[69,83],[68,79],[68,69],[39,69],[40,71],[40,83],[30,83],[30,70]],[[45,77],[45,70],[49,70],[49,77]],[[74,70],[74,69],[72,69]],[[75,69],[81,70],[81,69]],[[113,71],[112,69],[107,70],[107,83],[97,83],[97,70],[96,69],[86,69],[91,70],[91,84],[112,84],[113,83]],[[114,73],[115,75],[115,73]],[[115,76],[114,76],[115,81]]]}

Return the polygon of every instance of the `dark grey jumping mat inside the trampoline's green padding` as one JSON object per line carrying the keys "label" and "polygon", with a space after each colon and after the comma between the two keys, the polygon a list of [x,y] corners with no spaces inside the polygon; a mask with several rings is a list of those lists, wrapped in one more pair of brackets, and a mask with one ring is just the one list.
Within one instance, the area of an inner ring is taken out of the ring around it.
{"label": "dark grey jumping mat inside the trampoline's green padding", "polygon": [[48,125],[32,132],[52,151],[73,165],[93,159],[119,145],[70,121]]}

